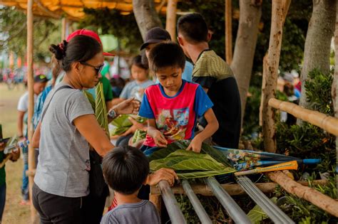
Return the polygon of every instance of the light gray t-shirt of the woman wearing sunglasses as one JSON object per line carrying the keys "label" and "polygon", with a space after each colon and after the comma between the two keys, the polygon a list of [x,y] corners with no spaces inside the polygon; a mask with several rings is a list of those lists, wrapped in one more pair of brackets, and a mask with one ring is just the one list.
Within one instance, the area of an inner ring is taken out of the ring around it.
{"label": "light gray t-shirt of the woman wearing sunglasses", "polygon": [[62,89],[61,82],[48,94],[41,123],[39,163],[34,182],[42,191],[57,196],[82,197],[89,193],[89,146],[73,125],[74,119],[93,114],[81,90]]}

